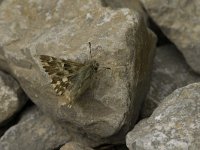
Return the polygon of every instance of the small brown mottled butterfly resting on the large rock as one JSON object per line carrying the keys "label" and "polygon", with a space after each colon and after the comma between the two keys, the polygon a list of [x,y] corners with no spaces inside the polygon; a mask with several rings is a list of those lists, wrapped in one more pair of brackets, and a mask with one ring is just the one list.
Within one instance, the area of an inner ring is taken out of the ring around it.
{"label": "small brown mottled butterfly resting on the large rock", "polygon": [[[89,42],[90,54],[91,43]],[[90,86],[99,63],[88,60],[85,63],[40,55],[42,67],[51,78],[51,85],[58,96],[67,96],[68,106],[74,103]]]}

